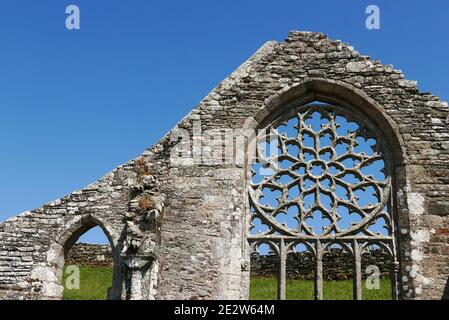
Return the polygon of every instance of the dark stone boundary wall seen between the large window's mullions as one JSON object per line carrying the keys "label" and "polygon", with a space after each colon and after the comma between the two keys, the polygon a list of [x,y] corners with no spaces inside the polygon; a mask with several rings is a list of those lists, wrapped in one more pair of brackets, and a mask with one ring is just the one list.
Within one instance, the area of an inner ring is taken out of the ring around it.
{"label": "dark stone boundary wall seen between the large window's mullions", "polygon": [[[333,250],[323,257],[323,277],[326,280],[347,280],[352,278],[352,257],[341,250]],[[390,277],[391,260],[380,251],[362,256],[362,276],[366,278],[366,268],[375,265],[382,277]],[[277,276],[279,259],[276,255],[251,255],[251,276]],[[287,256],[287,278],[311,280],[314,277],[314,258],[310,253],[291,253]]]}

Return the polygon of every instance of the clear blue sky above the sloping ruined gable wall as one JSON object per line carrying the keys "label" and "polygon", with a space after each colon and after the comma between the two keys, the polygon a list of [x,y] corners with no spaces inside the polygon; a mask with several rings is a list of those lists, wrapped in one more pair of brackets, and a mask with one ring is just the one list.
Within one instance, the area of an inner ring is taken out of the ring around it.
{"label": "clear blue sky above the sloping ruined gable wall", "polygon": [[[81,9],[81,30],[65,8]],[[365,8],[381,10],[367,30]],[[449,100],[449,2],[0,4],[0,221],[138,156],[267,40],[327,33]]]}

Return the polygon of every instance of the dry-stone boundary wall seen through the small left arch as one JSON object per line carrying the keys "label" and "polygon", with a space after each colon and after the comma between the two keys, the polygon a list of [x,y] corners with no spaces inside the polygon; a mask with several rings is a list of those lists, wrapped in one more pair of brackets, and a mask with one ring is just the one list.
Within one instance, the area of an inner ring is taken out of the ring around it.
{"label": "dry-stone boundary wall seen through the small left arch", "polygon": [[101,244],[77,243],[73,245],[66,258],[66,265],[93,267],[112,267],[111,246]]}

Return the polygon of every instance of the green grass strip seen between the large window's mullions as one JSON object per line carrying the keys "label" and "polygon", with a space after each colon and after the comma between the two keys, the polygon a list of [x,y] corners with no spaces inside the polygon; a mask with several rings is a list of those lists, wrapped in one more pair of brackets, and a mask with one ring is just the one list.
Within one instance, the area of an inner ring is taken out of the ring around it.
{"label": "green grass strip seen between the large window's mullions", "polygon": [[[364,284],[364,282],[363,282]],[[352,280],[325,281],[324,300],[352,300]],[[287,300],[313,300],[314,283],[312,280],[287,279]],[[277,299],[277,279],[251,277],[251,300]],[[391,281],[382,279],[379,290],[363,288],[364,300],[391,300]]]}

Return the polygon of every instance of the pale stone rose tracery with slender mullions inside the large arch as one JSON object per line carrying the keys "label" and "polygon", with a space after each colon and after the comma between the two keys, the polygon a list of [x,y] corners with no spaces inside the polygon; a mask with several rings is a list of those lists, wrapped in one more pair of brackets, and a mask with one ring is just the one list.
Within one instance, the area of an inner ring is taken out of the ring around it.
{"label": "pale stone rose tracery with slender mullions inside the large arch", "polygon": [[[395,255],[391,180],[381,135],[368,120],[329,104],[295,108],[258,136],[249,241],[255,250],[268,243],[281,268],[299,243],[317,261],[340,245],[353,255],[360,282],[360,250],[378,242]],[[317,299],[322,298],[320,268]],[[285,287],[279,290],[285,298]],[[355,298],[361,298],[361,288]]]}

